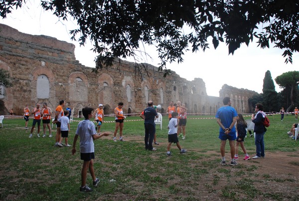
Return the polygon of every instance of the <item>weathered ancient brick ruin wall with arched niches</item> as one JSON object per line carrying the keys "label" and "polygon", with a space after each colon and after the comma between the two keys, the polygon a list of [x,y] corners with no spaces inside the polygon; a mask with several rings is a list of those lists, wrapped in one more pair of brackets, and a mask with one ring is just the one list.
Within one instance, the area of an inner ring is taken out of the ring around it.
{"label": "weathered ancient brick ruin wall with arched niches", "polygon": [[[73,44],[21,33],[3,24],[0,29],[0,68],[8,70],[14,84],[3,89],[0,99],[18,115],[26,104],[33,108],[36,103],[47,102],[54,109],[62,99],[75,109],[75,115],[83,107],[96,108],[99,103],[105,105],[105,114],[113,113],[118,102],[124,102],[125,113],[139,113],[148,100],[160,104],[162,112],[170,101],[180,100],[190,113],[213,114],[222,106],[224,95],[232,97],[240,111],[247,112],[248,98],[255,93],[224,85],[220,97],[211,97],[201,78],[187,81],[174,72],[163,78],[157,67],[123,60],[96,74],[76,60]],[[136,65],[141,66],[143,77],[135,71]]]}

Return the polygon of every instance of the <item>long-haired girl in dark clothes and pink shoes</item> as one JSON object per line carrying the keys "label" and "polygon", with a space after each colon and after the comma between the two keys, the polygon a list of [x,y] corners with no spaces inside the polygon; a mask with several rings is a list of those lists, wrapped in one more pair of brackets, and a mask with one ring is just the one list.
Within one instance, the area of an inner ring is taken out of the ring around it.
{"label": "long-haired girl in dark clothes and pink shoes", "polygon": [[238,157],[238,152],[239,152],[239,145],[241,145],[241,148],[245,154],[244,160],[247,161],[250,159],[249,155],[247,154],[247,151],[244,146],[244,139],[246,136],[246,127],[247,123],[244,120],[244,117],[241,113],[238,114],[237,116],[237,131],[238,131],[238,136],[236,140],[236,153],[235,153],[235,160],[239,160]]}

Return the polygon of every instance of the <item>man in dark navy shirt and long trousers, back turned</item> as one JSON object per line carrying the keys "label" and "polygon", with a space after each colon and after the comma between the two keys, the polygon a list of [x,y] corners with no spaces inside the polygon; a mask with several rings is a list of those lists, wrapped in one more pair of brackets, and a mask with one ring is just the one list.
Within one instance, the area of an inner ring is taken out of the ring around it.
{"label": "man in dark navy shirt and long trousers, back turned", "polygon": [[152,147],[152,140],[155,134],[154,117],[158,118],[158,113],[153,109],[152,101],[148,102],[148,107],[144,110],[145,115],[145,144],[146,150],[155,151]]}

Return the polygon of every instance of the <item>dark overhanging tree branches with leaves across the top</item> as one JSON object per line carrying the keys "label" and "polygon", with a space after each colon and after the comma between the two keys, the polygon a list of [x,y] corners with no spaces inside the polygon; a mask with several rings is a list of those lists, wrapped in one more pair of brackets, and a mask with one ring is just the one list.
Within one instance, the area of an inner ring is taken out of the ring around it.
{"label": "dark overhanging tree branches with leaves across the top", "polygon": [[[0,15],[23,6],[25,0],[0,2]],[[299,51],[298,0],[41,0],[45,10],[62,19],[73,17],[78,28],[72,39],[84,45],[87,38],[99,53],[97,67],[117,57],[135,57],[144,44],[154,45],[161,60],[181,62],[188,48],[197,51],[225,42],[234,53],[254,37],[258,46],[269,43],[285,50],[286,62]],[[258,25],[262,28],[258,29]]]}

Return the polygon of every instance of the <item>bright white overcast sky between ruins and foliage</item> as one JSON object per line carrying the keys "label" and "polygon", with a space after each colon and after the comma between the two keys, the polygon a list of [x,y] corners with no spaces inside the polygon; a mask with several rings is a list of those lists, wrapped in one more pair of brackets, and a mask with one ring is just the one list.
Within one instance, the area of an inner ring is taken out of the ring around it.
{"label": "bright white overcast sky between ruins and foliage", "polygon": [[[21,9],[13,10],[4,19],[0,18],[0,23],[23,33],[47,35],[73,43],[76,46],[76,59],[85,66],[95,67],[94,58],[97,54],[91,50],[93,47],[91,41],[80,47],[78,42],[70,39],[69,30],[77,28],[76,22],[59,20],[50,11],[44,11],[39,3],[39,0],[28,0]],[[209,96],[219,96],[219,91],[224,84],[262,93],[263,79],[267,70],[270,70],[276,91],[279,92],[282,89],[276,84],[275,78],[284,72],[299,70],[298,52],[293,55],[293,64],[286,64],[282,56],[284,50],[271,47],[261,49],[257,47],[256,41],[250,43],[249,46],[243,44],[234,52],[234,55],[228,55],[228,47],[225,43],[220,43],[216,50],[212,42],[209,44],[210,48],[205,52],[188,51],[185,52],[182,63],[175,62],[166,65],[167,69],[189,81],[202,78]],[[146,51],[152,59],[143,62],[158,66],[160,60],[156,50],[153,47],[147,47]],[[126,60],[134,61],[133,59]]]}

